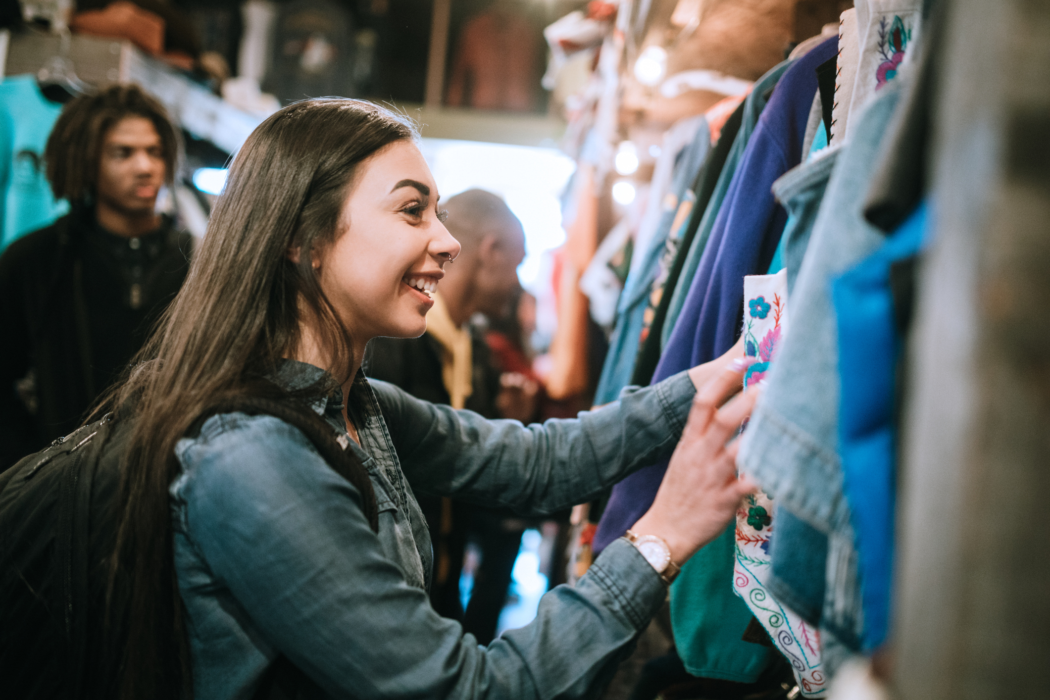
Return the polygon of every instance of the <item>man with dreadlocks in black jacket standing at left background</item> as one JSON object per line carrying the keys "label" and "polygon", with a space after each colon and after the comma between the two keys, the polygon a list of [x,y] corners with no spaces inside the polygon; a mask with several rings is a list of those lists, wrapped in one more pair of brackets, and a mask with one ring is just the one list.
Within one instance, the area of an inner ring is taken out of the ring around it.
{"label": "man with dreadlocks in black jacket standing at left background", "polygon": [[178,146],[134,85],[56,122],[44,160],[69,214],[0,256],[0,471],[80,425],[182,287],[191,237],[155,212]]}

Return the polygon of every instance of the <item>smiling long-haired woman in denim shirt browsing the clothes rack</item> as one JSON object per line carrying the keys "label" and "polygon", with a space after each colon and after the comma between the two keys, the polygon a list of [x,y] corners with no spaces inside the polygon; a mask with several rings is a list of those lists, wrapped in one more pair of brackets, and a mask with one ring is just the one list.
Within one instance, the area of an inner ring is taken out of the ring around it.
{"label": "smiling long-haired woman in denim shirt browsing the clothes rack", "polygon": [[[528,427],[364,379],[370,339],[424,332],[459,251],[416,139],[375,105],[312,100],[237,154],[186,285],[113,399],[134,416],[111,584],[131,601],[122,697],[250,697],[280,657],[310,697],[590,696],[663,603],[671,565],[751,487],[727,442],[754,393],[727,403],[742,377],[729,357]],[[234,412],[190,430],[215,397],[264,379],[364,466],[377,530],[292,425]],[[533,623],[481,648],[429,607],[415,493],[542,515],[672,451],[632,540],[548,593]]]}

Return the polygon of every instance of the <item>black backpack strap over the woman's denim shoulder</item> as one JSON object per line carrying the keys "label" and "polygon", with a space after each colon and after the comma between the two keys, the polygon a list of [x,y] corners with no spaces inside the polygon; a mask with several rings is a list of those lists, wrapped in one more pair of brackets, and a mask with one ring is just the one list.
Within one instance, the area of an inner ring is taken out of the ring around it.
{"label": "black backpack strap over the woman's denim shoulder", "polygon": [[379,510],[376,508],[376,493],[372,488],[369,472],[357,455],[343,449],[335,439],[335,431],[324,420],[294,400],[277,400],[254,396],[236,396],[220,399],[201,413],[190,433],[198,432],[204,422],[217,413],[248,413],[249,416],[273,416],[294,425],[313,443],[332,469],[354,485],[361,494],[361,510],[369,519],[373,532],[379,531]]}

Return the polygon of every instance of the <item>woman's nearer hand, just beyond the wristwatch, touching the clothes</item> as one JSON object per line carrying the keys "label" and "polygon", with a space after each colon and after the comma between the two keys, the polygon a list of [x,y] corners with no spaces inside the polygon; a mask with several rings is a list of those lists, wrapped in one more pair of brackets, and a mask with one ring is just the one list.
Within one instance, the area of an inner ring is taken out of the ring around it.
{"label": "woman's nearer hand, just beyond the wristwatch, touching the clothes", "polygon": [[757,488],[747,476],[736,475],[737,441],[727,445],[751,416],[760,393],[749,389],[727,403],[739,390],[749,364],[744,359],[729,363],[696,393],[656,499],[631,528],[639,536],[666,542],[675,564],[685,564],[721,534],[740,499]]}

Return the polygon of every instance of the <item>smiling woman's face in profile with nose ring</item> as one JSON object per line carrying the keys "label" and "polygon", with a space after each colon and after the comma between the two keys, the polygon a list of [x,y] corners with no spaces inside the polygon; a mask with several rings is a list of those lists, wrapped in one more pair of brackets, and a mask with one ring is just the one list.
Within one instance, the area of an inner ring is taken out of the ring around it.
{"label": "smiling woman's face in profile with nose ring", "polygon": [[318,256],[321,289],[357,343],[426,331],[430,295],[460,251],[443,218],[414,143],[395,142],[361,164],[340,214],[343,233]]}

